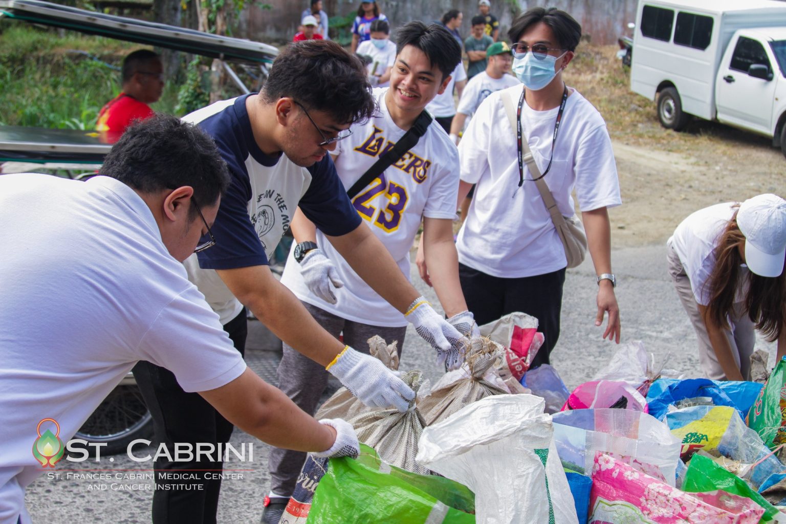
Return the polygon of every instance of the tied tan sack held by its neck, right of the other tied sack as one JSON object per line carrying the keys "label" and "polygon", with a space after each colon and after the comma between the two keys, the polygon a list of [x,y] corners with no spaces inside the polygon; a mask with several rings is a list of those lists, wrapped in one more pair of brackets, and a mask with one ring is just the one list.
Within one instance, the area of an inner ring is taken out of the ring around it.
{"label": "tied tan sack held by its neck, right of the other tied sack", "polygon": [[445,420],[481,398],[510,394],[495,368],[504,351],[505,348],[485,337],[470,339],[467,359],[461,368],[446,373],[434,384],[431,394],[417,398],[417,409],[426,426]]}

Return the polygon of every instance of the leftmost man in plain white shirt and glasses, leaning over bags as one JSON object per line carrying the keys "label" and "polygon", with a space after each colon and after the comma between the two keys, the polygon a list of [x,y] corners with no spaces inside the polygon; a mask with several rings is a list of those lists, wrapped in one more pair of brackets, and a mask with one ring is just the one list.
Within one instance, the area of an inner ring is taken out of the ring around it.
{"label": "leftmost man in plain white shirt and glasses, leaning over bags", "polygon": [[318,423],[246,367],[186,278],[230,183],[211,138],[154,116],[99,175],[0,177],[0,522],[31,522],[25,487],[141,360],[265,442],[358,453],[348,423]]}

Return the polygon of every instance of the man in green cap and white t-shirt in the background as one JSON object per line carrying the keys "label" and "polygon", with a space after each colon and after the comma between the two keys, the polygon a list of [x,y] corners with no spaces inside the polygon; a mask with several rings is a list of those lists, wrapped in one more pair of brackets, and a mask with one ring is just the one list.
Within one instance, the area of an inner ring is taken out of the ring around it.
{"label": "man in green cap and white t-shirt in the background", "polygon": [[521,85],[521,81],[510,74],[513,55],[507,42],[494,42],[486,49],[486,56],[489,60],[486,70],[473,76],[459,97],[456,115],[450,124],[453,137],[461,134],[467,119],[475,114],[480,102],[491,93]]}

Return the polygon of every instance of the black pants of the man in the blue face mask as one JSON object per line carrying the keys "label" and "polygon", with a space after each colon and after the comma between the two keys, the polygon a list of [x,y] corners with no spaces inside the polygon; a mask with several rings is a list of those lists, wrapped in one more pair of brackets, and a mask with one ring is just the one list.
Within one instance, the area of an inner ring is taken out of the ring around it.
{"label": "black pants of the man in the blue face mask", "polygon": [[534,277],[500,278],[459,264],[458,277],[467,307],[475,315],[478,325],[488,324],[516,311],[537,318],[538,331],[543,333],[544,342],[532,367],[549,364],[549,354],[560,338],[564,268]]}

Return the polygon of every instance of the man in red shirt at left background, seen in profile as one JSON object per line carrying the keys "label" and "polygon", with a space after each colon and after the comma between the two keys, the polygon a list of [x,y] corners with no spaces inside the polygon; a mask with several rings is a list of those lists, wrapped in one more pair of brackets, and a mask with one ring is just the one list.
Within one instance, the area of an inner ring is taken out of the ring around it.
{"label": "man in red shirt at left background, seen in profile", "polygon": [[98,113],[96,130],[120,134],[136,120],[148,119],[163,90],[163,64],[156,53],[139,49],[123,60],[123,90]]}

